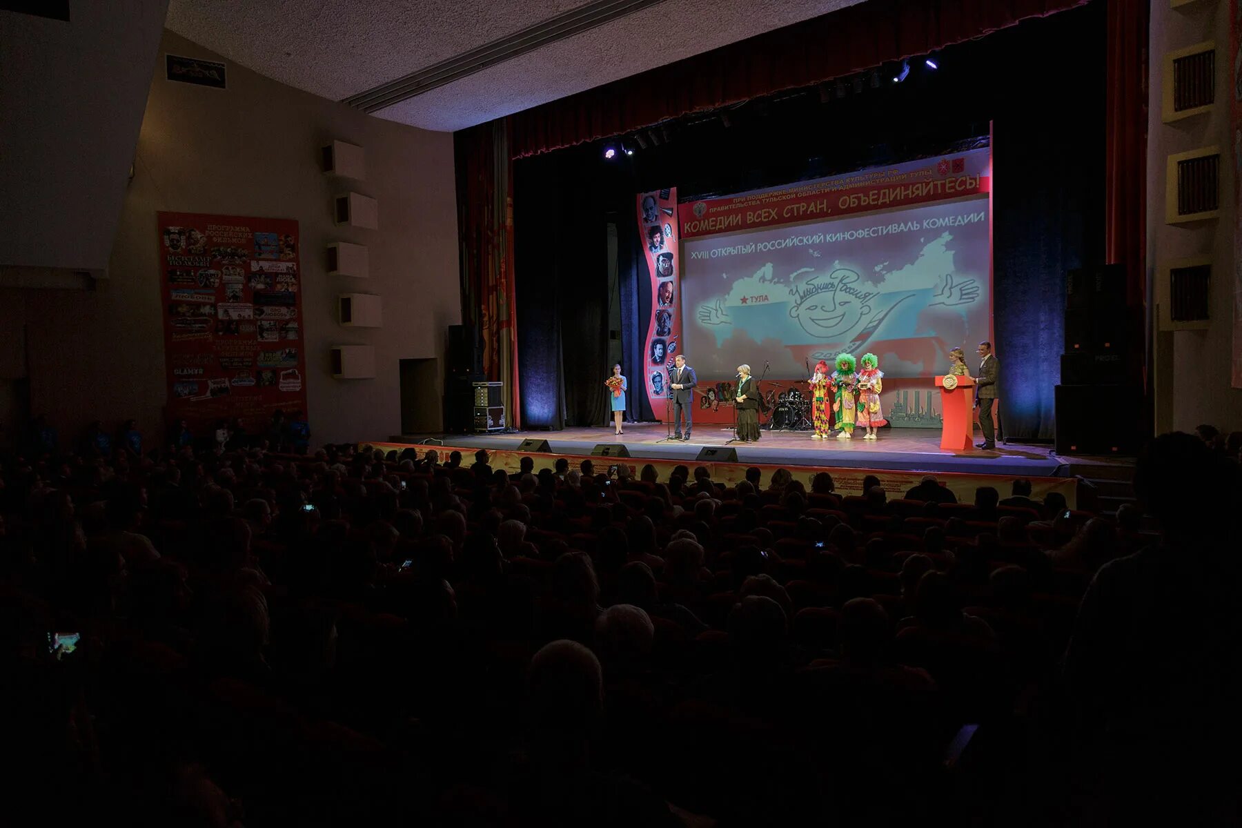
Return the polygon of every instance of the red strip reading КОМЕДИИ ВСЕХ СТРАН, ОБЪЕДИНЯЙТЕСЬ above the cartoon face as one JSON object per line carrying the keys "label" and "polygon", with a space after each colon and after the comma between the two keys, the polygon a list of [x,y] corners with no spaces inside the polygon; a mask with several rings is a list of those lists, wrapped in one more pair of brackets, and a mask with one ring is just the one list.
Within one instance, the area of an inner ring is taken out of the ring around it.
{"label": "red strip reading \u041a\u041e\u041c\u0415\u0414\u0418\u0418 \u0412\u0421\u0415\u0425 \u0421\u0422\u0420\u0410\u041d, \u041e\u0411\u042a\u0415\u0414\u0418\u041d\u042f\u0419\u0422\u0415\u0421\u042c above the cartoon face", "polygon": [[986,153],[866,170],[814,184],[681,205],[682,238],[975,196],[991,190]]}

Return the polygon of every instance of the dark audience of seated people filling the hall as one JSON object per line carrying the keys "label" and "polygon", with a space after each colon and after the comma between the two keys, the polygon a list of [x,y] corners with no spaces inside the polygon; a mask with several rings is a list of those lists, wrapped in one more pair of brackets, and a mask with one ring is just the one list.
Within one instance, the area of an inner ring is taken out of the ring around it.
{"label": "dark audience of seated people filling the hall", "polygon": [[9,458],[10,782],[45,824],[1015,826],[1181,773],[1182,824],[1238,817],[1237,464],[1196,437],[1146,518],[589,463]]}

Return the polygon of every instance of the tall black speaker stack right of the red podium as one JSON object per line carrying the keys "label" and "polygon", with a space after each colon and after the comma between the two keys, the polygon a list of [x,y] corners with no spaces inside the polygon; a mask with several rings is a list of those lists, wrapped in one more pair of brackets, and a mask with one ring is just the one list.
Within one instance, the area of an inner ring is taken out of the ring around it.
{"label": "tall black speaker stack right of the red podium", "polygon": [[1058,454],[1134,454],[1141,443],[1143,389],[1136,380],[1125,268],[1066,274],[1066,349],[1056,389]]}

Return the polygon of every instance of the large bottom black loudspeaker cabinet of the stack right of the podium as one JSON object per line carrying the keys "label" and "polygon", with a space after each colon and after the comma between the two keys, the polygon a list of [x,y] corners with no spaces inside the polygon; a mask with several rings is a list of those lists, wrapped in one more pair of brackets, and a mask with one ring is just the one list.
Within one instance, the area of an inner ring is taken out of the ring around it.
{"label": "large bottom black loudspeaker cabinet of the stack right of the podium", "polygon": [[1143,391],[1133,385],[1058,385],[1057,454],[1133,457],[1143,444]]}

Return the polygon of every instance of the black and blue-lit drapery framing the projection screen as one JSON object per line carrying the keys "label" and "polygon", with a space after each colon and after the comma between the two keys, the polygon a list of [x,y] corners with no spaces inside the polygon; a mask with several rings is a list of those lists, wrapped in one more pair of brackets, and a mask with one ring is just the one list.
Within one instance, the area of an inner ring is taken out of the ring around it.
{"label": "black and blue-lit drapery framing the projection screen", "polygon": [[[912,65],[900,84],[886,76],[878,88],[867,83],[854,93],[850,86],[838,98],[830,83],[729,108],[727,119],[673,122],[658,130],[658,145],[648,137],[646,149],[636,146],[619,161],[602,160],[601,143],[517,160],[527,425],[558,427],[558,406],[573,425],[606,421],[600,384],[607,371],[607,221],[617,223],[625,371],[635,385],[635,343],[650,313],[630,294],[647,279],[628,223],[636,192],[677,186],[686,201],[789,184],[935,155],[995,124],[994,313],[1004,433],[1051,439],[1064,274],[1100,263],[1104,253],[1104,11],[1095,1],[948,47],[938,72]],[[965,345],[971,354],[972,343]]]}

